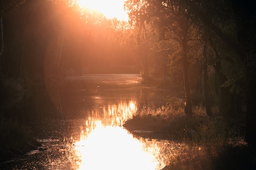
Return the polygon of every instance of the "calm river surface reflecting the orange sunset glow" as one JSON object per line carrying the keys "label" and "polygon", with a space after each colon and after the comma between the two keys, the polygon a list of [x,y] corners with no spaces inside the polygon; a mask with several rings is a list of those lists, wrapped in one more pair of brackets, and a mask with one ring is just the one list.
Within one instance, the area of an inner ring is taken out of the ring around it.
{"label": "calm river surface reflecting the orange sunset glow", "polygon": [[[46,116],[31,123],[42,148],[2,163],[0,169],[161,170],[181,145],[136,137],[122,127],[144,106],[162,106],[168,95],[140,82],[135,74],[69,76],[58,86],[46,82],[55,110],[46,108]],[[36,101],[44,100],[34,100],[42,111]]]}

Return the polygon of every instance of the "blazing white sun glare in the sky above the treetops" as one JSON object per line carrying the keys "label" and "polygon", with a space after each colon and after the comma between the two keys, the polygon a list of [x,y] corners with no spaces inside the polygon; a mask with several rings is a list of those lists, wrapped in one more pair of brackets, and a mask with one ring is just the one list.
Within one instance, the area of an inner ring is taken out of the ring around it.
{"label": "blazing white sun glare in the sky above the treetops", "polygon": [[91,11],[103,13],[106,18],[128,21],[128,14],[124,11],[126,0],[78,0],[81,8],[89,8]]}

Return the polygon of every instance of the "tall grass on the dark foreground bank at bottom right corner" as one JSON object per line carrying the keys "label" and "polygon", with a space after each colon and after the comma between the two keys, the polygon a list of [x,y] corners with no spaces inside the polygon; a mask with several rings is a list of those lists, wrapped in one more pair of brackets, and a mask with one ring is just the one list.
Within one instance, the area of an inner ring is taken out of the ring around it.
{"label": "tall grass on the dark foreground bank at bottom right corner", "polygon": [[195,117],[183,120],[186,124],[177,133],[186,147],[169,155],[165,170],[255,170],[255,150],[248,148],[239,126],[209,118],[202,110],[194,107]]}

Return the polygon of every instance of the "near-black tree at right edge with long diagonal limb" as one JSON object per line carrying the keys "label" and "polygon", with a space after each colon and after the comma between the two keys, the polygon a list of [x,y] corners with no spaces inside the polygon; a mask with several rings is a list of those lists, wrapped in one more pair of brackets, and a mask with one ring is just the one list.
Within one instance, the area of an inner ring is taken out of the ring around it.
{"label": "near-black tree at right edge with long diagonal limb", "polygon": [[[245,141],[252,148],[256,148],[256,107],[254,106],[256,98],[255,86],[256,79],[256,4],[253,0],[246,2],[231,0],[231,9],[234,12],[235,24],[237,29],[237,39],[234,40],[231,36],[225,34],[218,26],[216,26],[209,18],[207,18],[207,9],[201,9],[202,5],[196,4],[191,0],[184,0],[191,7],[200,19],[206,24],[220,39],[222,39],[237,56],[236,62],[241,62],[245,66],[245,83],[243,89],[247,98],[247,116],[246,116],[246,133]],[[226,2],[226,1],[224,1]],[[225,9],[222,9],[223,11]]]}

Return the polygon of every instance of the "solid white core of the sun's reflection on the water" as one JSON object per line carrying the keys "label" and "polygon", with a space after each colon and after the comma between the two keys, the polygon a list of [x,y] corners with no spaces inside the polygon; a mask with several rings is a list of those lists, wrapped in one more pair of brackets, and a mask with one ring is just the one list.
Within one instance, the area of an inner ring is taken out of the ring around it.
{"label": "solid white core of the sun's reflection on the water", "polygon": [[121,127],[97,128],[76,142],[75,149],[81,160],[79,170],[156,170],[160,166],[151,153],[159,155],[159,148],[155,146],[148,152],[146,146]]}

